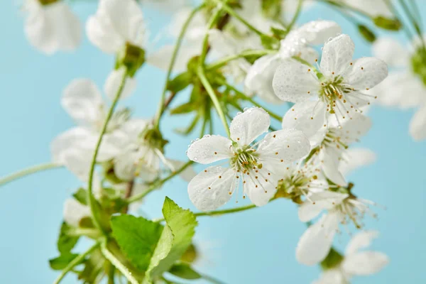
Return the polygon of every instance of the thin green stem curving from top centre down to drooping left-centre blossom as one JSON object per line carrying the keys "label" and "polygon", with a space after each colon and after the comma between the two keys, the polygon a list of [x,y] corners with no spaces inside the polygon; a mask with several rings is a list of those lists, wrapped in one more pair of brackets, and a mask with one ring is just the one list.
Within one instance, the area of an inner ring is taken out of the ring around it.
{"label": "thin green stem curving from top centre down to drooping left-centre blossom", "polygon": [[188,16],[187,20],[185,21],[185,23],[182,26],[182,29],[180,30],[178,40],[177,40],[176,45],[175,45],[175,49],[173,50],[172,58],[170,59],[170,64],[169,64],[169,67],[168,67],[168,70],[167,70],[167,75],[165,75],[165,84],[164,84],[164,88],[163,88],[163,94],[161,94],[160,104],[158,105],[158,111],[157,111],[157,115],[155,116],[155,121],[154,121],[154,127],[155,128],[158,128],[158,125],[160,124],[161,116],[163,115],[163,113],[165,111],[165,93],[167,92],[167,89],[168,89],[168,82],[170,80],[170,75],[172,75],[172,71],[173,71],[173,67],[175,66],[176,58],[178,57],[180,45],[182,45],[183,38],[185,36],[185,33],[187,31],[188,26],[190,26],[192,18],[194,18],[195,14],[198,11],[200,11],[200,9],[202,9],[203,7],[204,7],[204,4],[198,6],[194,10],[192,10],[192,12],[190,13],[190,16]]}

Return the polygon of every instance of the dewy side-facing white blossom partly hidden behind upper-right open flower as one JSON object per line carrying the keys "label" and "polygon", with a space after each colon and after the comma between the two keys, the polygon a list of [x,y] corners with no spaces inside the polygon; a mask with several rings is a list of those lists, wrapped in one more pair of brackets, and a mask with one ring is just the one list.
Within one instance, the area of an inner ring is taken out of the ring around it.
{"label": "dewy side-facing white blossom partly hidden behind upper-right open flower", "polygon": [[312,21],[290,31],[285,39],[281,40],[278,53],[265,55],[254,62],[244,81],[246,89],[266,102],[282,103],[282,99],[275,95],[273,89],[273,77],[278,66],[293,56],[314,62],[317,53],[310,45],[322,44],[327,38],[340,32],[339,25],[332,21]]}

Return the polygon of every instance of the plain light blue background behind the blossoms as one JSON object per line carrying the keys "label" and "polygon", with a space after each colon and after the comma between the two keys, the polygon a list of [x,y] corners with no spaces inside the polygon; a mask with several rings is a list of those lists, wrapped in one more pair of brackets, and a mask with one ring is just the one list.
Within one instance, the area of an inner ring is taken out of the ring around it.
{"label": "plain light blue background behind the blossoms", "polygon": [[[84,23],[96,4],[76,1],[73,9]],[[145,14],[151,34],[162,31],[168,16],[153,10],[145,10]],[[369,45],[354,27],[334,11],[310,9],[302,14],[300,23],[319,17],[337,21],[344,33],[354,36],[356,57],[370,54]],[[0,18],[1,176],[50,160],[50,141],[73,126],[59,104],[62,89],[77,77],[91,78],[102,87],[114,58],[87,38],[75,53],[46,57],[26,41],[18,5],[1,1]],[[123,104],[136,109],[137,116],[152,116],[164,76],[164,72],[145,65],[137,75],[136,94]],[[283,107],[274,109],[284,111]],[[415,143],[408,135],[413,111],[373,107],[370,114],[373,129],[359,146],[371,148],[378,160],[356,171],[350,180],[355,182],[358,195],[388,207],[376,208],[379,222],[366,219],[366,227],[381,231],[373,248],[388,253],[391,263],[381,273],[355,278],[353,283],[426,283],[426,143]],[[166,138],[173,141],[167,148],[173,158],[185,159],[190,139],[171,131],[187,121],[187,117],[179,117],[163,122]],[[216,125],[219,129],[219,121]],[[57,256],[62,203],[78,185],[61,169],[0,188],[0,283],[51,283],[55,279],[58,273],[50,270],[48,259]],[[185,182],[175,179],[147,198],[143,212],[160,217],[165,195],[182,207],[195,209],[188,200]],[[230,202],[232,206],[234,202]],[[310,283],[320,272],[295,260],[295,246],[305,225],[298,221],[291,202],[278,200],[249,212],[200,218],[199,222],[196,239],[203,248],[200,270],[225,283]],[[346,234],[337,237],[337,246],[343,248],[347,239]],[[86,245],[79,244],[80,248]],[[64,281],[75,282],[73,276]]]}

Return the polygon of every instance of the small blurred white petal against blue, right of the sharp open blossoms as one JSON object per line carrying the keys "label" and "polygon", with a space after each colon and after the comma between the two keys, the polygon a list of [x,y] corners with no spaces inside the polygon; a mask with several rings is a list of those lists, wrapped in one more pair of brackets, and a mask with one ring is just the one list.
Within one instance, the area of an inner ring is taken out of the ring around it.
{"label": "small blurred white petal against blue, right of the sharp open blossoms", "polygon": [[366,148],[349,148],[339,164],[339,172],[345,177],[353,170],[376,161],[376,153]]}

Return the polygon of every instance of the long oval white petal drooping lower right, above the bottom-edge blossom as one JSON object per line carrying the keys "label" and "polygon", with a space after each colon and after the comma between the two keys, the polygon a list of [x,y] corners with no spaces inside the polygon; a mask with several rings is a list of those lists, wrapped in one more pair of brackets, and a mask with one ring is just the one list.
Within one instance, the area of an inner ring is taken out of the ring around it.
{"label": "long oval white petal drooping lower right, above the bottom-edge blossom", "polygon": [[296,248],[296,259],[302,264],[313,266],[329,253],[339,219],[337,214],[324,214],[300,237]]}

